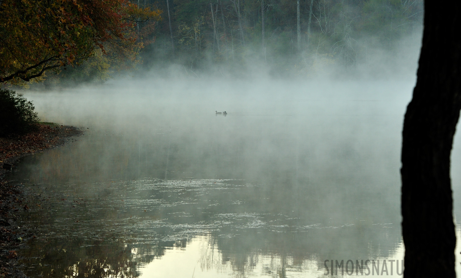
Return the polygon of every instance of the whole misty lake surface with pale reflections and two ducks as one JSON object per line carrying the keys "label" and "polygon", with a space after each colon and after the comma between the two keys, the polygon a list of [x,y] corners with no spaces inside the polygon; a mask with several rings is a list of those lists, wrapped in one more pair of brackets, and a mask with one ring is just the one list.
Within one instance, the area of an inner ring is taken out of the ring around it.
{"label": "whole misty lake surface with pale reflections and two ducks", "polygon": [[375,260],[379,275],[402,277],[400,145],[413,86],[178,79],[27,92],[42,121],[85,133],[8,177],[31,200],[21,225],[38,227],[22,268],[31,278],[288,278]]}

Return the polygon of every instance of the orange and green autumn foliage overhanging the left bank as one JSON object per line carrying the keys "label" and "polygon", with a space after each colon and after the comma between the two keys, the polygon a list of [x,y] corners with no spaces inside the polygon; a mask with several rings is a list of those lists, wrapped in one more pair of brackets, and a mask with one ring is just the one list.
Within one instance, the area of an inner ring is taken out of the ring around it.
{"label": "orange and green autumn foliage overhanging the left bank", "polygon": [[98,49],[134,59],[141,37],[160,19],[159,10],[128,0],[0,0],[0,5],[0,83],[59,71]]}

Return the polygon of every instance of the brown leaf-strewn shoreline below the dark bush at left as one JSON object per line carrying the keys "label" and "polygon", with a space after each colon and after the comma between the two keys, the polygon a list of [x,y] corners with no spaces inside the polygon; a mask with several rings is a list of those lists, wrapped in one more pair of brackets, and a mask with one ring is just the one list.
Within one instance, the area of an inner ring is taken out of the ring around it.
{"label": "brown leaf-strewn shoreline below the dark bush at left", "polygon": [[31,237],[29,231],[18,227],[15,215],[22,206],[24,192],[5,179],[14,170],[15,163],[24,156],[45,152],[63,146],[72,138],[82,136],[84,131],[74,126],[39,123],[38,130],[22,136],[0,137],[0,278],[26,277],[18,269],[17,249],[23,237]]}

